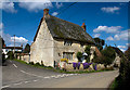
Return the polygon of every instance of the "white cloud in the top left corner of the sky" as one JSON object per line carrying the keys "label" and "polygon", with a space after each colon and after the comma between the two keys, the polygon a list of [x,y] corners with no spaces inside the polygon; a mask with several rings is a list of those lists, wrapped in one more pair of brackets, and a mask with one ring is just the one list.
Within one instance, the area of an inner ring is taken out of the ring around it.
{"label": "white cloud in the top left corner of the sky", "polygon": [[2,2],[2,3],[0,3],[0,9],[5,12],[11,12],[11,13],[17,12],[17,10],[15,10],[15,8],[14,8],[13,2]]}

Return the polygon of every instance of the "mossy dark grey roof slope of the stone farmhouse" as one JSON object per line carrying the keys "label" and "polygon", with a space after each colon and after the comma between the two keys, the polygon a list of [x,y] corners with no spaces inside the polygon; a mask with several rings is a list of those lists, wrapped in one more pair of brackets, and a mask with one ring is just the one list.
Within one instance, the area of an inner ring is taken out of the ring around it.
{"label": "mossy dark grey roof slope of the stone farmhouse", "polygon": [[[43,18],[41,18],[41,21],[43,21]],[[46,17],[46,22],[53,38],[72,39],[81,42],[94,43],[92,37],[89,34],[87,34],[83,30],[83,28],[79,25],[76,25],[70,22],[66,22],[64,20],[51,15],[50,17]]]}

